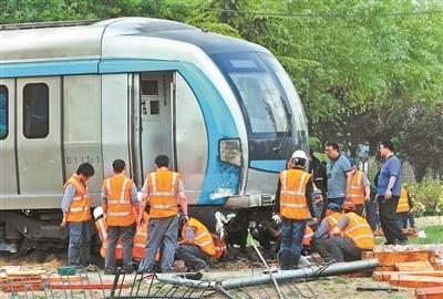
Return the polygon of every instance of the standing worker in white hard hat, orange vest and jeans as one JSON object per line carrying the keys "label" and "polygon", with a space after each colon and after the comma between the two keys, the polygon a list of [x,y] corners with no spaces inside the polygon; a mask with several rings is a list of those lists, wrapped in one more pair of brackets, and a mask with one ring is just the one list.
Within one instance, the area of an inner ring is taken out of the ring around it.
{"label": "standing worker in white hard hat, orange vest and jeans", "polygon": [[280,172],[272,219],[281,223],[282,270],[298,268],[307,221],[310,218],[317,221],[311,202],[311,175],[303,171],[307,163],[306,153],[296,151],[291,156],[291,167]]}

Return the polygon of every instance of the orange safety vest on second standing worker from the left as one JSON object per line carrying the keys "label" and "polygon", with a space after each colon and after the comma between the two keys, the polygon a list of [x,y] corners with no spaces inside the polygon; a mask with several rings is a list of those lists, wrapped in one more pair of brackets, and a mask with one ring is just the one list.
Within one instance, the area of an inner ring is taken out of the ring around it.
{"label": "orange safety vest on second standing worker from the left", "polygon": [[114,175],[103,181],[107,202],[106,224],[109,226],[128,226],[135,223],[131,202],[132,179],[124,175]]}

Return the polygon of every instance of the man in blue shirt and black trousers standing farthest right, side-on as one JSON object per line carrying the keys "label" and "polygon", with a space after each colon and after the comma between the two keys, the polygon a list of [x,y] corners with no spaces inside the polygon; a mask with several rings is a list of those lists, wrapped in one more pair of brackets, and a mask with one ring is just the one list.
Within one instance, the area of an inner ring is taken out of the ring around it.
{"label": "man in blue shirt and black trousers standing farthest right, side-on", "polygon": [[396,225],[396,206],[401,190],[401,163],[393,154],[394,145],[390,141],[380,144],[380,156],[384,158],[377,183],[380,223],[387,238],[385,245],[405,245],[408,237]]}

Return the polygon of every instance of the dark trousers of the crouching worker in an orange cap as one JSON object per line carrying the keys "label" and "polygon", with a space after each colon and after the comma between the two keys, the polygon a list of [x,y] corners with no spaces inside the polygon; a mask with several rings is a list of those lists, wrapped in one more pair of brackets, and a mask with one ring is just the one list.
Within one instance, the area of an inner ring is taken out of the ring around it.
{"label": "dark trousers of the crouching worker in an orange cap", "polygon": [[327,247],[329,250],[324,251],[326,257],[323,259],[326,261],[336,259],[338,262],[341,262],[361,259],[362,249],[357,247],[353,241],[347,237],[333,236],[327,243]]}

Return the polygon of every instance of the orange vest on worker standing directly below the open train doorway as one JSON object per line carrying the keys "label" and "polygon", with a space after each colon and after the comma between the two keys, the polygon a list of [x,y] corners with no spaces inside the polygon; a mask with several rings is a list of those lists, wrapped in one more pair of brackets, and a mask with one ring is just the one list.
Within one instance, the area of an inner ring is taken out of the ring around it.
{"label": "orange vest on worker standing directly below the open train doorway", "polygon": [[181,177],[177,173],[164,168],[158,168],[147,176],[150,216],[152,218],[166,218],[178,214],[179,179]]}

